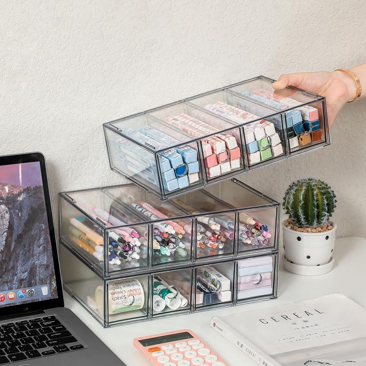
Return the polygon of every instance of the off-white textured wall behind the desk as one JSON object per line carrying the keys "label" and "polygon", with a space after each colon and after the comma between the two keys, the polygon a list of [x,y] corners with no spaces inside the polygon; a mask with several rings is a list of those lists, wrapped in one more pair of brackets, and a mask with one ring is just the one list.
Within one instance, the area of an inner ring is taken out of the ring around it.
{"label": "off-white textured wall behind the desk", "polygon": [[[365,19],[361,0],[2,0],[0,154],[43,152],[55,204],[61,190],[122,183],[103,122],[261,74],[365,62]],[[324,179],[339,236],[366,236],[365,119],[365,101],[348,105],[331,147],[243,177],[276,199]]]}

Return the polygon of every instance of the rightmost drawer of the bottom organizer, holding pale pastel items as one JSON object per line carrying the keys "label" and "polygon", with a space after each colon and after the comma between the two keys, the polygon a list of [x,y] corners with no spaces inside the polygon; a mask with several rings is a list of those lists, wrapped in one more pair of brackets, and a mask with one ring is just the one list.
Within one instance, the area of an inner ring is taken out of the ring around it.
{"label": "rightmost drawer of the bottom organizer, holding pale pastel items", "polygon": [[238,261],[238,302],[276,296],[277,260],[275,254]]}

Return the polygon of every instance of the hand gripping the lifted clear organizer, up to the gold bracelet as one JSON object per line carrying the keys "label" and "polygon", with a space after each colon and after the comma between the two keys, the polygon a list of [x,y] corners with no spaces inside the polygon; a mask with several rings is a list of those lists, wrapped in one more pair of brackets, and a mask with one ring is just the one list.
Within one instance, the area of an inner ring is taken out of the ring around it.
{"label": "hand gripping the lifted clear organizer, up to the gold bracelet", "polygon": [[357,93],[355,81],[343,71],[283,74],[272,84],[275,90],[289,85],[325,96],[330,126],[333,126],[337,114],[346,102]]}

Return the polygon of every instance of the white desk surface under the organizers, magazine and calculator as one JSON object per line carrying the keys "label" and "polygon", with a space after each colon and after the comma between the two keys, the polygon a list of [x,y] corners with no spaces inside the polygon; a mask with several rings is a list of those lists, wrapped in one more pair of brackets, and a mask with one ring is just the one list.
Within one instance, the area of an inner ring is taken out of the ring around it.
{"label": "white desk surface under the organizers, magazine and calculator", "polygon": [[275,300],[168,317],[144,323],[121,325],[108,329],[104,329],[68,294],[65,294],[65,302],[66,306],[73,310],[127,366],[149,365],[149,362],[134,348],[132,344],[134,338],[183,328],[195,332],[229,366],[244,365],[244,362],[247,366],[255,366],[257,365],[256,362],[210,327],[211,317],[282,305],[334,292],[342,292],[366,307],[366,292],[364,291],[366,282],[366,239],[337,239],[334,253],[335,265],[333,270],[320,276],[293,275],[283,269],[282,261],[280,261],[278,298]]}

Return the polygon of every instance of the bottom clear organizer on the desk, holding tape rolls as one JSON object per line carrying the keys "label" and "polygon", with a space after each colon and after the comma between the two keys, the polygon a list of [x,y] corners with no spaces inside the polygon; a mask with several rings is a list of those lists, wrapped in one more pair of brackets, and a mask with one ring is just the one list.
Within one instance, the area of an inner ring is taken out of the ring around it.
{"label": "bottom clear organizer on the desk, holding tape rolls", "polygon": [[65,290],[104,327],[275,298],[277,256],[103,279],[60,245]]}

